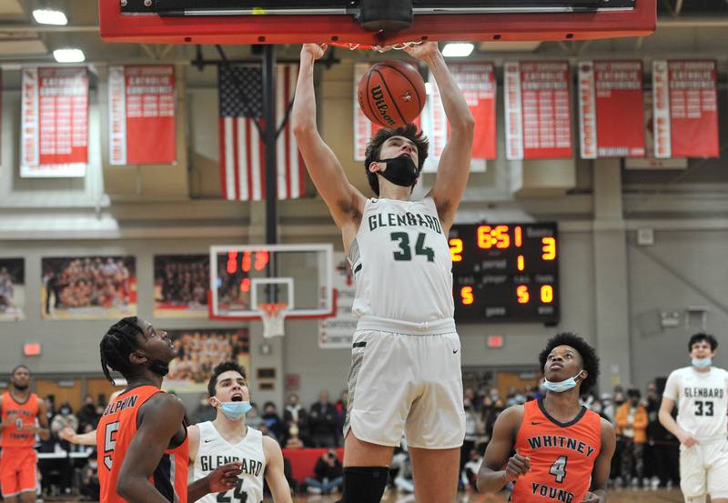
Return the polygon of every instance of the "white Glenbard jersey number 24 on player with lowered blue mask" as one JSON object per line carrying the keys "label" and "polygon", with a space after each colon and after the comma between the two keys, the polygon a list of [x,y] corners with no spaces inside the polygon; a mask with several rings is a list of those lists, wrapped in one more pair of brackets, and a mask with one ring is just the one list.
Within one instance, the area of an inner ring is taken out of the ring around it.
{"label": "white Glenbard jersey number 24 on player with lowered blue mask", "polygon": [[263,503],[263,477],[266,472],[266,454],[263,451],[263,434],[248,427],[248,434],[237,444],[222,438],[212,422],[197,425],[199,448],[193,465],[194,479],[207,477],[215,468],[240,461],[243,473],[238,485],[227,493],[208,494],[198,501],[202,503]]}

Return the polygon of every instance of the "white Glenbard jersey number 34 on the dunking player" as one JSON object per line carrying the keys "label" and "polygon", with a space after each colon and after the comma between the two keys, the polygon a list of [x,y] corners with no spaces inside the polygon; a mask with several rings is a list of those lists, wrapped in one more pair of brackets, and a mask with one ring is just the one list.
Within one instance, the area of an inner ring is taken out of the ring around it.
{"label": "white Glenbard jersey number 34 on the dunking player", "polygon": [[431,197],[367,200],[349,263],[357,317],[412,323],[453,317],[450,246]]}

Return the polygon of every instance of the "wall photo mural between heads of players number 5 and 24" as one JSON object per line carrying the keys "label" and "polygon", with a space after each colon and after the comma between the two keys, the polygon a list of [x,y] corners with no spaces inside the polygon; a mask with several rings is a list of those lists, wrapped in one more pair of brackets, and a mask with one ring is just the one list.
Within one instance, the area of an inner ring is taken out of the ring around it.
{"label": "wall photo mural between heads of players number 5 and 24", "polygon": [[236,361],[250,371],[248,328],[186,328],[167,330],[178,356],[169,364],[163,388],[175,393],[207,390],[212,370]]}

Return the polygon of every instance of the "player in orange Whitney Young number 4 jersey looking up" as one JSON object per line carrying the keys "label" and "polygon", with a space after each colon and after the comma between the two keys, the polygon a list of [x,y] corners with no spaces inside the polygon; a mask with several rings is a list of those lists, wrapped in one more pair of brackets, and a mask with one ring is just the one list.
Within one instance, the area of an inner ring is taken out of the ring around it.
{"label": "player in orange Whitney Young number 4 jersey looking up", "polygon": [[478,488],[494,493],[513,482],[512,503],[603,503],[614,429],[579,402],[596,382],[599,359],[581,337],[561,333],[549,340],[539,363],[546,396],[496,419]]}

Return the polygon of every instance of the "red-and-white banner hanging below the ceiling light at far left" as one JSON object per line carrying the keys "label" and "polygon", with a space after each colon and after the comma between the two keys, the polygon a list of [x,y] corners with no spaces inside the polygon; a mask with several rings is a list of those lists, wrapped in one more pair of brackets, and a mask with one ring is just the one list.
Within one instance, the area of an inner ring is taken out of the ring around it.
{"label": "red-and-white banner hanging below the ceiling light at far left", "polygon": [[86,67],[23,68],[20,176],[86,176]]}

